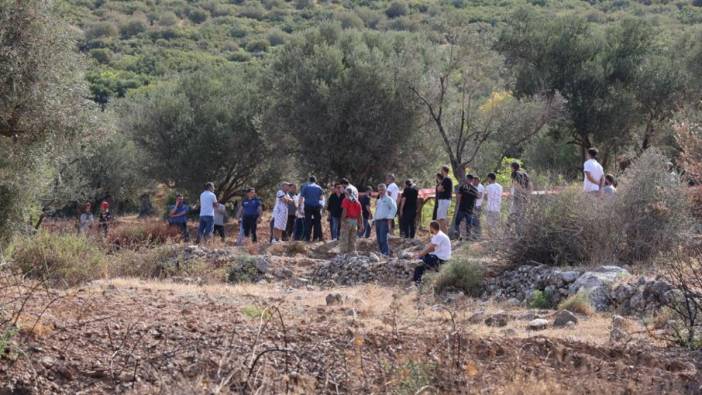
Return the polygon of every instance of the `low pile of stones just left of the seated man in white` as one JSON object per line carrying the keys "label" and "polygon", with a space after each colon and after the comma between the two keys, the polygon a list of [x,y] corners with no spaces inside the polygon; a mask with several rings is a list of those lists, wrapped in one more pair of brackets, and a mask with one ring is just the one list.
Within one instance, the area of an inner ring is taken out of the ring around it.
{"label": "low pile of stones just left of the seated man in white", "polygon": [[342,254],[319,264],[310,279],[322,285],[407,283],[417,263],[410,259],[381,259],[372,252],[368,255]]}

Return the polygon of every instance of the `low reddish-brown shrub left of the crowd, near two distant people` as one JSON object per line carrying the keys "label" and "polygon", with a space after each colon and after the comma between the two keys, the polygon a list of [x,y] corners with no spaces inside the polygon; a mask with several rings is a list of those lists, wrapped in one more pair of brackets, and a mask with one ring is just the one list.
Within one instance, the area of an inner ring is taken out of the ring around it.
{"label": "low reddish-brown shrub left of the crowd, near two distant people", "polygon": [[176,240],[180,233],[162,221],[119,224],[107,235],[107,242],[118,248],[139,249],[154,244]]}

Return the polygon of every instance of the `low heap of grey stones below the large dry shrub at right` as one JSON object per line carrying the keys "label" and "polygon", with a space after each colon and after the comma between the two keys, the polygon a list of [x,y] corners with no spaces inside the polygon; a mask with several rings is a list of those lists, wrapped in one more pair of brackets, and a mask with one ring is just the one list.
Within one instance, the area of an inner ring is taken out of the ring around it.
{"label": "low heap of grey stones below the large dry shrub at right", "polygon": [[660,278],[636,279],[619,266],[564,270],[525,265],[487,279],[485,289],[485,296],[520,302],[530,300],[539,291],[554,307],[568,296],[584,292],[596,310],[614,309],[624,315],[655,311],[678,292]]}

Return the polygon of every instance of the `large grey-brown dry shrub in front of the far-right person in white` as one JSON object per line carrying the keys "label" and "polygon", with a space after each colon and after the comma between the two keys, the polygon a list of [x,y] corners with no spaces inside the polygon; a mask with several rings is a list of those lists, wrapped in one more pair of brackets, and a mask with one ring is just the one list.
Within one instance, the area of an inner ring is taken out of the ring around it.
{"label": "large grey-brown dry shrub in front of the far-right person in white", "polygon": [[620,177],[615,196],[601,198],[573,186],[534,196],[502,245],[513,264],[634,264],[670,251],[690,235],[690,204],[655,149]]}

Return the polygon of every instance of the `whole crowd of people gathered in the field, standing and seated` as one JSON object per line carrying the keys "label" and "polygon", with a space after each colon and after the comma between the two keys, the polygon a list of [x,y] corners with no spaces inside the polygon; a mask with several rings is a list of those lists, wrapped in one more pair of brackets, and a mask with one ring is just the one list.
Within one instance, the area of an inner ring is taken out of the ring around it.
{"label": "whole crowd of people gathered in the field, standing and seated", "polygon": [[[616,180],[613,175],[604,174],[597,156],[597,149],[588,150],[587,161],[583,165],[583,190],[592,194],[614,194]],[[513,162],[511,170],[508,223],[515,232],[519,232],[520,219],[531,195],[531,182],[519,163]],[[485,184],[479,176],[467,174],[454,185],[449,173],[448,166],[442,166],[436,173],[436,203],[429,226],[431,240],[417,256],[422,260],[414,275],[417,283],[426,270],[437,268],[450,259],[450,234],[459,240],[477,240],[482,237],[483,231],[493,237],[501,228],[503,187],[497,182],[496,174],[489,173]],[[385,256],[392,254],[388,240],[396,231],[404,238],[416,237],[423,201],[420,200],[420,190],[413,180],[405,180],[401,189],[395,176],[388,174],[385,182],[375,188],[366,186],[359,190],[348,179],[342,178],[329,189],[327,195],[314,176],[309,177],[299,189],[294,183],[281,183],[275,195],[269,224],[270,243],[288,240],[323,241],[325,236],[322,223],[325,212],[329,239],[338,241],[341,253],[354,253],[357,239],[370,238],[373,230],[378,250]],[[224,204],[217,201],[214,191],[214,184],[208,182],[200,194],[197,243],[206,242],[215,236],[224,241],[226,237],[224,225],[227,210]],[[454,200],[452,221],[450,208]],[[242,245],[247,239],[252,243],[259,241],[257,231],[263,217],[263,207],[256,190],[246,189],[235,214],[238,222],[236,244]],[[187,226],[190,212],[191,207],[184,201],[183,195],[176,194],[175,204],[169,207],[167,220],[179,229],[185,241],[190,240]],[[111,220],[109,204],[102,202],[99,227],[105,235]],[[80,232],[87,232],[93,222],[91,206],[87,203],[80,216]]]}

